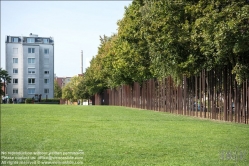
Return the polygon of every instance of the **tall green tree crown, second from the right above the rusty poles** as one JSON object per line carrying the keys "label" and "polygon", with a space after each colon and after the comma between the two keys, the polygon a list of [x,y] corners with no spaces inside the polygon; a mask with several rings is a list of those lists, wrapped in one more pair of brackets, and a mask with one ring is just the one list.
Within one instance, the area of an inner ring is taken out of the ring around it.
{"label": "tall green tree crown, second from the right above the rusty poles", "polygon": [[[141,33],[148,42],[151,72],[155,78],[171,76],[178,80],[189,72],[181,64],[190,55],[190,27],[184,8],[178,1],[144,1]],[[189,67],[189,66],[188,66]]]}

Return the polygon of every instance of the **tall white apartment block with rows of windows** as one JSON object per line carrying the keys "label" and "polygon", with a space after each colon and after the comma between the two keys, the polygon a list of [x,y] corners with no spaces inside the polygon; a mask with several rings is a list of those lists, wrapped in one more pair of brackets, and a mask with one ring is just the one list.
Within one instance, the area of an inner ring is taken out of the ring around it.
{"label": "tall white apartment block with rows of windows", "polygon": [[7,85],[10,98],[54,97],[54,39],[29,36],[6,36],[6,70],[11,76]]}

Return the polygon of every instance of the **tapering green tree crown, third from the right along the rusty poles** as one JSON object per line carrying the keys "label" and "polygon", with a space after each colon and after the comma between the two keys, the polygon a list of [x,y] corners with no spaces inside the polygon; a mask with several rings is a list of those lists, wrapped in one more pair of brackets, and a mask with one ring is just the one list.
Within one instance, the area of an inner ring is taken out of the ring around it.
{"label": "tapering green tree crown, third from the right along the rusty poles", "polygon": [[118,21],[118,34],[115,41],[116,61],[114,70],[120,84],[142,83],[152,78],[150,71],[148,42],[142,31],[142,0],[134,0],[125,9],[123,19]]}

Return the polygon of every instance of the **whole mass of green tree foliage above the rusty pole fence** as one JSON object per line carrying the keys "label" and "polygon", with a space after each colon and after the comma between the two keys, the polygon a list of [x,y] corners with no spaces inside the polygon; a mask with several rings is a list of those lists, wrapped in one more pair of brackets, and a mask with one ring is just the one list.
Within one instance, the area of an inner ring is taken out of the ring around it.
{"label": "whole mass of green tree foliage above the rusty pole fence", "polygon": [[150,78],[182,77],[229,66],[241,84],[249,79],[249,3],[245,0],[134,0],[118,32],[100,37],[98,54],[81,88],[104,89]]}

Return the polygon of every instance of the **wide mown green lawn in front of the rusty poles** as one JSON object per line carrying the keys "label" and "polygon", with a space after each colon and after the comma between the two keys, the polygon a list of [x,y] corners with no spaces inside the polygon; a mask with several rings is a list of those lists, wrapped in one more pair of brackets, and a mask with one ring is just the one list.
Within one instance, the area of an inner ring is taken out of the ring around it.
{"label": "wide mown green lawn in front of the rusty poles", "polygon": [[2,104],[1,156],[2,165],[248,165],[249,126],[124,107]]}

